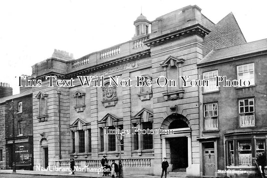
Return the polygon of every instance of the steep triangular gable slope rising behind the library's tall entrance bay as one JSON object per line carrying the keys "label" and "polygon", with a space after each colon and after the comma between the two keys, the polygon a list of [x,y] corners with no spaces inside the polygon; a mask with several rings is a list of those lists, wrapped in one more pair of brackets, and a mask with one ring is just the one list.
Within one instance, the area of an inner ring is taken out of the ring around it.
{"label": "steep triangular gable slope rising behind the library's tall entrance bay", "polygon": [[203,41],[203,56],[214,49],[246,43],[232,12],[213,25],[210,30]]}

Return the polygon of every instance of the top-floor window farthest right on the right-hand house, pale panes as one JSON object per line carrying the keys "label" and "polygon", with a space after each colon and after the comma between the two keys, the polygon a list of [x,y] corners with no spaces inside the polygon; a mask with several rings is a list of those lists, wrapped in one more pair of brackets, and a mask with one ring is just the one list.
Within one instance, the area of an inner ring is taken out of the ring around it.
{"label": "top-floor window farthest right on the right-hand house, pale panes", "polygon": [[237,80],[249,80],[250,85],[255,84],[254,81],[254,63],[247,63],[237,66]]}

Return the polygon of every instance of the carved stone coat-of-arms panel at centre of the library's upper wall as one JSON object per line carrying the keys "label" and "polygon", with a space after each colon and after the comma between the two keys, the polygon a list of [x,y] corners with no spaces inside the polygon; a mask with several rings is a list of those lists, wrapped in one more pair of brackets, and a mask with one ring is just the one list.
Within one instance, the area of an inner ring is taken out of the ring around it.
{"label": "carved stone coat-of-arms panel at centre of the library's upper wall", "polygon": [[110,82],[106,82],[104,87],[102,87],[102,91],[103,100],[101,102],[105,107],[110,107],[117,104],[117,87],[114,83],[110,85]]}

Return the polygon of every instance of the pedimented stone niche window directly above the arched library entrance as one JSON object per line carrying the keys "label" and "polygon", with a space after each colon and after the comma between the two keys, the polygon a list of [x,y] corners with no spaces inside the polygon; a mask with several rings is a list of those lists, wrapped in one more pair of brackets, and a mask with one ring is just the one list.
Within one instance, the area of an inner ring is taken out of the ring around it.
{"label": "pedimented stone niche window directly above the arched library entrance", "polygon": [[164,75],[172,80],[171,84],[173,86],[164,86],[164,95],[165,100],[175,100],[182,99],[184,95],[184,89],[182,87],[182,80],[179,76],[182,76],[182,66],[184,59],[177,58],[174,56],[167,57],[160,65],[164,68]]}

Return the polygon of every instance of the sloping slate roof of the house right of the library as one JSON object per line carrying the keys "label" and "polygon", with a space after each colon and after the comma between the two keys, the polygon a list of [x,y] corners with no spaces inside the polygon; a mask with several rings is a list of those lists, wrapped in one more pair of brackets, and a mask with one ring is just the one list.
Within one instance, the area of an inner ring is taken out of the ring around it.
{"label": "sloping slate roof of the house right of the library", "polygon": [[259,52],[263,50],[267,50],[267,38],[231,47],[211,50],[199,63],[215,61],[219,59],[249,54],[253,52]]}

